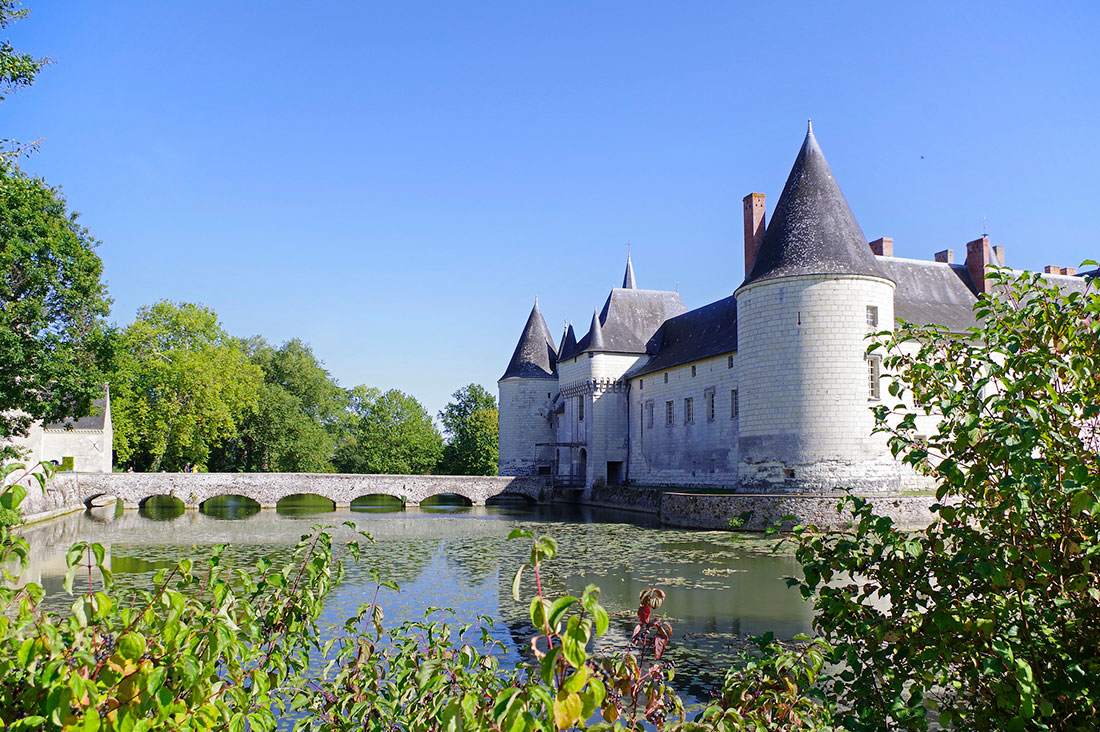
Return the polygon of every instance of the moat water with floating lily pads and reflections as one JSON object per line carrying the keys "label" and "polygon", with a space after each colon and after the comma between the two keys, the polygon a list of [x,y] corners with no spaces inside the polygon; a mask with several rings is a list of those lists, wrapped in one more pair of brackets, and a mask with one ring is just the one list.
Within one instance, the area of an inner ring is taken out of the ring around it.
{"label": "moat water with floating lily pads and reflections", "polygon": [[642,589],[668,593],[661,612],[674,636],[667,657],[676,664],[675,686],[689,700],[710,697],[746,636],[773,631],[790,637],[810,630],[810,605],[783,581],[799,565],[760,537],[661,528],[645,514],[582,506],[443,502],[402,510],[378,503],[333,511],[317,501],[261,510],[230,498],[208,504],[207,512],[166,503],[70,514],[22,532],[31,544],[26,577],[42,582],[55,607],[64,607],[69,602],[62,590],[65,550],[73,542],[105,544],[120,584],[148,586],[158,568],[183,556],[197,559],[215,544],[231,545],[226,559],[232,562],[252,565],[260,557],[279,562],[315,524],[353,521],[375,543],[364,547],[362,565],[350,568],[328,599],[322,624],[342,622],[370,599],[374,586],[366,570],[375,567],[402,587],[399,594],[382,596],[387,622],[420,619],[429,605],[453,608],[457,624],[491,615],[498,621],[497,640],[509,648],[506,660],[514,663],[534,633],[527,618],[534,589],[525,583],[525,601],[513,601],[512,577],[529,545],[506,537],[525,527],[559,543],[559,557],[542,575],[549,596],[580,594],[588,583],[602,589],[612,615],[603,649],[627,645]]}

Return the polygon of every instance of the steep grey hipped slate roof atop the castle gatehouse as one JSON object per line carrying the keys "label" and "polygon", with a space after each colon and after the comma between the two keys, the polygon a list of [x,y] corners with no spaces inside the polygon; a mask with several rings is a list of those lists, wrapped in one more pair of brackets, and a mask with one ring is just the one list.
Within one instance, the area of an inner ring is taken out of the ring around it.
{"label": "steep grey hipped slate roof atop the castle gatehouse", "polygon": [[[661,324],[685,309],[680,293],[615,287],[598,317],[593,316],[593,327],[578,343],[574,356],[587,351],[645,353]],[[593,342],[594,338],[598,342]]]}

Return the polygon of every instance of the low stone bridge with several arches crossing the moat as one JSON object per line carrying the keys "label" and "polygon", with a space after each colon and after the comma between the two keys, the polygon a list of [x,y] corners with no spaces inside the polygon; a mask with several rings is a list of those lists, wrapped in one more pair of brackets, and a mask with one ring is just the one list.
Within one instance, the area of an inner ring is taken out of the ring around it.
{"label": "low stone bridge with several arches crossing the moat", "polygon": [[507,476],[361,476],[348,473],[69,473],[61,474],[56,488],[69,501],[90,504],[113,496],[127,506],[140,506],[154,495],[172,495],[185,506],[199,507],[218,495],[243,495],[261,506],[274,507],[279,499],[301,493],[320,495],[337,506],[350,505],[366,495],[392,495],[417,504],[432,495],[461,495],[473,505],[497,496],[549,500],[544,478]]}

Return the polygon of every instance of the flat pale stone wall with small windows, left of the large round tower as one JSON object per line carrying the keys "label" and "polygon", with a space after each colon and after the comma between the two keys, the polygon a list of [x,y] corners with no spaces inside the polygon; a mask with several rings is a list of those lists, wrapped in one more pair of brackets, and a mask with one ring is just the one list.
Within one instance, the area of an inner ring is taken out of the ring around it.
{"label": "flat pale stone wall with small windows, left of the large round tower", "polygon": [[[730,392],[736,389],[738,402],[744,398],[738,373],[738,356],[734,352],[631,379],[630,480],[649,485],[734,488],[738,479],[740,419],[732,415]],[[714,393],[713,419],[707,414],[708,391]],[[691,423],[684,420],[685,397],[692,400]],[[673,420],[668,425],[666,403],[670,401]],[[653,408],[652,427],[649,403]]]}

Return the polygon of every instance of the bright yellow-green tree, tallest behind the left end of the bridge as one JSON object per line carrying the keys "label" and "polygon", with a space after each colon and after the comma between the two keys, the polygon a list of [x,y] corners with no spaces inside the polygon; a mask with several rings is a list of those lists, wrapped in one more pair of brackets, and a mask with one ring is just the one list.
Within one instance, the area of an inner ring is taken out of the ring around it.
{"label": "bright yellow-green tree, tallest behind the left end of the bridge", "polygon": [[111,406],[121,465],[202,469],[257,406],[263,371],[201,305],[143,307],[122,332],[118,360]]}

